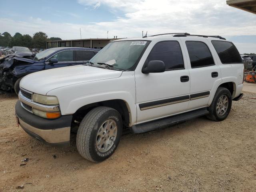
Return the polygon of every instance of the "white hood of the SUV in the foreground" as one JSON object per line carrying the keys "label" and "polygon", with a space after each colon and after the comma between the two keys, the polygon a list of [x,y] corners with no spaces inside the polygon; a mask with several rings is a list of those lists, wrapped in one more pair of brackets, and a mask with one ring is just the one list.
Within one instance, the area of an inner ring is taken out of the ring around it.
{"label": "white hood of the SUV in the foreground", "polygon": [[35,72],[22,78],[20,87],[42,95],[50,90],[84,82],[118,78],[122,71],[84,65],[54,68]]}

